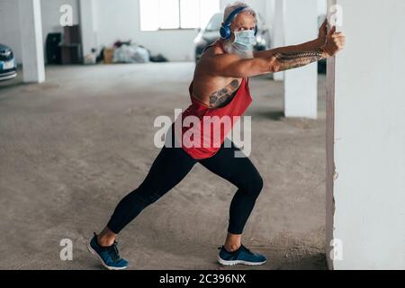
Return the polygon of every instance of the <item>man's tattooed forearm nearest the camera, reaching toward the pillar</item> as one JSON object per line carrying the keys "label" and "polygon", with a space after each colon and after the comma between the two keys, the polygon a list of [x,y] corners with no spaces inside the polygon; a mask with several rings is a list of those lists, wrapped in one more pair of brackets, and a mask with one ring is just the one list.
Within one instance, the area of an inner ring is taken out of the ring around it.
{"label": "man's tattooed forearm nearest the camera, reaching toward the pillar", "polygon": [[322,49],[295,53],[275,53],[275,71],[284,71],[306,66],[323,58]]}

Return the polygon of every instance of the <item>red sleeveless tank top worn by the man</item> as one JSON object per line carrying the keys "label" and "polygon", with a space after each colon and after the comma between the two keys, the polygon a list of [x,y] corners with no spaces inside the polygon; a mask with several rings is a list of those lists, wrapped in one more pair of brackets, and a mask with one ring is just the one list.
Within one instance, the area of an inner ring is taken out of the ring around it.
{"label": "red sleeveless tank top worn by the man", "polygon": [[[209,47],[211,46],[220,46],[223,50],[220,40]],[[206,159],[220,150],[235,123],[240,121],[240,117],[252,103],[248,78],[242,79],[231,102],[222,108],[211,109],[196,100],[193,97],[193,82],[189,87],[189,93],[192,104],[176,120],[175,127],[181,132],[175,133],[175,139],[194,159]]]}

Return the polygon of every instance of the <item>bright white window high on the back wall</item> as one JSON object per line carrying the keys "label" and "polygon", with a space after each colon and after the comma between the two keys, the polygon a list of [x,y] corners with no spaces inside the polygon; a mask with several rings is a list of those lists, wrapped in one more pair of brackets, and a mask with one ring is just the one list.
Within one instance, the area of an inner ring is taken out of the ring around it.
{"label": "bright white window high on the back wall", "polygon": [[140,0],[140,30],[204,27],[220,11],[220,0]]}

